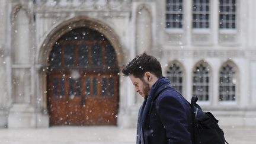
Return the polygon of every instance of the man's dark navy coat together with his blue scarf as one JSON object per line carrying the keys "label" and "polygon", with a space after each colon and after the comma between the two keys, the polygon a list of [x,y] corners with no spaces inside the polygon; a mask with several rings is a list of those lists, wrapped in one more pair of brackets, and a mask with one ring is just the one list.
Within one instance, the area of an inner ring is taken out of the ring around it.
{"label": "man's dark navy coat together with his blue scarf", "polygon": [[190,103],[167,78],[158,79],[139,110],[137,144],[191,144],[192,137]]}

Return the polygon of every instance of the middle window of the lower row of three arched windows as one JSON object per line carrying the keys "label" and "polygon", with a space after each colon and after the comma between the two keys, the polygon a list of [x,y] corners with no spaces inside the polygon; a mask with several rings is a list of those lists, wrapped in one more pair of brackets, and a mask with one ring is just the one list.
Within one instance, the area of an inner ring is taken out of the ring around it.
{"label": "middle window of the lower row of three arched windows", "polygon": [[207,62],[199,62],[193,71],[193,95],[200,101],[209,101],[209,73],[210,66]]}

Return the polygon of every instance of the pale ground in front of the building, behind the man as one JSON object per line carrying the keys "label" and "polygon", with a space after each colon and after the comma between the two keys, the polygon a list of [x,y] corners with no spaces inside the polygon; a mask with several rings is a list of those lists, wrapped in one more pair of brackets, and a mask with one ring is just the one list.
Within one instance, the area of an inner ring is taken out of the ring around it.
{"label": "pale ground in front of the building, behind the man", "polygon": [[[255,127],[224,127],[230,144],[256,143]],[[50,127],[46,129],[0,129],[0,143],[22,144],[134,144],[136,129],[120,127]]]}

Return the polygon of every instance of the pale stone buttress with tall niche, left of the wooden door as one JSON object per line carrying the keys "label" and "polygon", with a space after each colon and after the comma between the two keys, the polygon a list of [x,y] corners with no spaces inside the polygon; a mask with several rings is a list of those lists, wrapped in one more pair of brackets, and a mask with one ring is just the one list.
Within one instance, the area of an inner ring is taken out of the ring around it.
{"label": "pale stone buttress with tall niche, left of the wooden door", "polygon": [[33,106],[33,49],[29,2],[13,3],[11,28],[12,56],[12,107],[9,110],[8,127],[36,127],[36,111]]}

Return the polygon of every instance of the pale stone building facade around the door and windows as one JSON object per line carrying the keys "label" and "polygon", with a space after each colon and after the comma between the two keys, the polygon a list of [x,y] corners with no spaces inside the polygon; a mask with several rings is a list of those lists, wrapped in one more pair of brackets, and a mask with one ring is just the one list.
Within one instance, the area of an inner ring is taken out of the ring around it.
{"label": "pale stone building facade around the door and windows", "polygon": [[[252,0],[237,2],[238,28],[219,30],[218,2],[212,1],[207,30],[191,28],[191,1],[184,2],[184,28],[165,28],[165,1],[4,0],[0,2],[0,127],[49,127],[47,59],[60,36],[89,27],[113,44],[119,66],[144,51],[158,57],[164,75],[169,63],[184,69],[183,95],[190,100],[193,68],[210,65],[210,101],[200,103],[225,126],[256,125],[256,15]],[[213,23],[214,22],[214,23]],[[219,71],[226,62],[238,69],[236,100],[219,101]],[[117,125],[135,127],[142,98],[120,75]]]}

